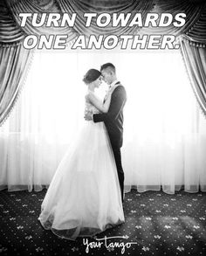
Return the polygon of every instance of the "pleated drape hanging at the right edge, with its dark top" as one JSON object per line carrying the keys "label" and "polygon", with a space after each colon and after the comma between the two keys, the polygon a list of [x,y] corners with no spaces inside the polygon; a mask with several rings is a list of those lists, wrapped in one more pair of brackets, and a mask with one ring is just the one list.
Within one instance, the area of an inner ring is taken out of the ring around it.
{"label": "pleated drape hanging at the right edge, with its dark top", "polygon": [[180,38],[182,57],[196,100],[206,114],[206,8]]}

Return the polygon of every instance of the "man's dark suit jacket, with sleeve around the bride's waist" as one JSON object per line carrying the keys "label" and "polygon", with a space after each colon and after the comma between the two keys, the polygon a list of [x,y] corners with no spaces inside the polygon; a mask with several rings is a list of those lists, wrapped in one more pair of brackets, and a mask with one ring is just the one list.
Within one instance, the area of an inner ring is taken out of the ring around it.
{"label": "man's dark suit jacket, with sleeve around the bride's waist", "polygon": [[111,144],[117,148],[120,148],[123,143],[123,107],[125,106],[126,100],[126,90],[120,84],[113,90],[108,112],[93,114],[94,122],[105,122]]}

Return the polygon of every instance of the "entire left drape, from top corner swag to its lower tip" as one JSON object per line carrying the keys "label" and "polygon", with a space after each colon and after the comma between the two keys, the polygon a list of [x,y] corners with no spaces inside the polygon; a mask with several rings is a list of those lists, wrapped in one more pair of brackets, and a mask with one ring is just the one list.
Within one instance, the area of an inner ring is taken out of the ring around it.
{"label": "entire left drape, from top corner swag to its lower tip", "polygon": [[0,125],[10,114],[31,65],[24,49],[24,31],[14,21],[6,2],[0,3]]}

